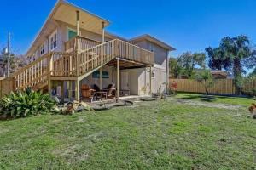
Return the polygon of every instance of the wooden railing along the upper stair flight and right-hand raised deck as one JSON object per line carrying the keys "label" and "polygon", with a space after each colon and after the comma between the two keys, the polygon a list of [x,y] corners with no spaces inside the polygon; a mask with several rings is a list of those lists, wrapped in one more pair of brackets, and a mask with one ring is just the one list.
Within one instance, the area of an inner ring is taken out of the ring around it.
{"label": "wooden railing along the upper stair flight and right-hand raised deck", "polygon": [[154,64],[154,54],[131,43],[114,39],[79,54],[79,76],[94,68],[107,64],[114,58],[137,61],[145,65]]}

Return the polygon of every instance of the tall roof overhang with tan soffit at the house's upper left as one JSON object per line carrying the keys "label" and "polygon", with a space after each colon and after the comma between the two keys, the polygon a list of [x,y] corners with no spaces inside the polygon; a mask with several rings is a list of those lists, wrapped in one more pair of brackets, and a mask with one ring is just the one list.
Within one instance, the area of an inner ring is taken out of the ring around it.
{"label": "tall roof overhang with tan soffit at the house's upper left", "polygon": [[102,31],[102,22],[105,23],[105,27],[110,24],[108,20],[102,19],[96,14],[92,14],[83,8],[79,8],[72,3],[68,3],[67,1],[58,0],[47,20],[44,22],[44,25],[38,32],[38,35],[35,37],[35,40],[32,42],[26,56],[38,48],[38,46],[45,41],[46,37],[49,36],[49,33],[55,30],[55,22],[61,21],[69,25],[76,26],[77,11],[79,11],[79,27],[84,30],[100,33]]}

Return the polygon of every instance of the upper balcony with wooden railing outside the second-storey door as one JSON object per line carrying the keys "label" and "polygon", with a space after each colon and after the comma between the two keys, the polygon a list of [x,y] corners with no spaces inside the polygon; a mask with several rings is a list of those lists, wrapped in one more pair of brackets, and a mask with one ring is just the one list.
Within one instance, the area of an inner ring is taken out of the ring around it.
{"label": "upper balcony with wooden railing outside the second-storey door", "polygon": [[[128,59],[145,65],[154,65],[154,54],[137,45],[114,39],[108,42],[98,42],[87,37],[76,36],[65,42],[66,53],[89,53],[90,55],[105,56],[114,54],[117,58]],[[99,48],[98,48],[99,47]]]}

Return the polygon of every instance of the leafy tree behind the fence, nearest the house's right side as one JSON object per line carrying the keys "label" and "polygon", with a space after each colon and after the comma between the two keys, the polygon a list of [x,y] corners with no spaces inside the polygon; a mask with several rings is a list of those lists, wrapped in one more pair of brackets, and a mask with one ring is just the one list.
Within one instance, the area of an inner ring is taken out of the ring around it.
{"label": "leafy tree behind the fence, nearest the house's right side", "polygon": [[205,68],[206,54],[204,53],[183,53],[178,59],[178,65],[182,68],[184,75],[192,77],[196,67]]}

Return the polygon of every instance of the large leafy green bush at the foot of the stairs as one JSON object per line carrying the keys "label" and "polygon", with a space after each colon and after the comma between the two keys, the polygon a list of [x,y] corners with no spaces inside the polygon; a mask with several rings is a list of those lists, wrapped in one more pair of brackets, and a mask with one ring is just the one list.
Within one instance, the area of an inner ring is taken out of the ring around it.
{"label": "large leafy green bush at the foot of the stairs", "polygon": [[49,94],[41,94],[27,88],[26,91],[11,92],[3,97],[0,100],[0,115],[18,118],[48,114],[55,105],[55,100]]}

